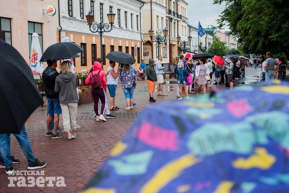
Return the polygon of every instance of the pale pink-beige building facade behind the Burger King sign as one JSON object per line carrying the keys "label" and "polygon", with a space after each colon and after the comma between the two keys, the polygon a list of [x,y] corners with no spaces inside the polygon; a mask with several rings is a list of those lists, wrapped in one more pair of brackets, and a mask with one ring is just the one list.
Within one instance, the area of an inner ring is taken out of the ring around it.
{"label": "pale pink-beige building facade behind the Burger King sign", "polygon": [[58,16],[48,16],[47,6],[52,5],[58,12],[56,0],[1,0],[0,38],[11,44],[29,64],[31,35],[39,35],[43,51],[57,41]]}

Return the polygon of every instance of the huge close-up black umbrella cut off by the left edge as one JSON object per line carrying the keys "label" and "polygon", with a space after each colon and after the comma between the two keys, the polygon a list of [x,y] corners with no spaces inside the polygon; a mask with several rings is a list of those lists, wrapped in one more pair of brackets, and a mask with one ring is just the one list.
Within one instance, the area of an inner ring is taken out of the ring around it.
{"label": "huge close-up black umbrella cut off by the left edge", "polygon": [[12,46],[0,39],[0,133],[19,133],[43,103],[29,65]]}

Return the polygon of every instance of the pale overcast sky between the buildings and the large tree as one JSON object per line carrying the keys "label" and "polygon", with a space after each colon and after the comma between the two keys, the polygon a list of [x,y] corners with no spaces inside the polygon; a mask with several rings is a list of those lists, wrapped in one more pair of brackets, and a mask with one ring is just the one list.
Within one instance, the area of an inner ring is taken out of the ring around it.
{"label": "pale overcast sky between the buildings and the large tree", "polygon": [[[214,0],[187,0],[189,23],[198,26],[200,21],[203,28],[217,26],[216,19],[224,10],[225,3],[215,5],[213,2]],[[227,27],[223,28],[225,29],[221,31],[228,31]]]}

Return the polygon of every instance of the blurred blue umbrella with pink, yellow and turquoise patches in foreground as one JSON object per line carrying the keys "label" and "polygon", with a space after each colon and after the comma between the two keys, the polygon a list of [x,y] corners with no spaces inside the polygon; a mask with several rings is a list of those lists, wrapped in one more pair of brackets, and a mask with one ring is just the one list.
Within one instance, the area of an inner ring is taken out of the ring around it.
{"label": "blurred blue umbrella with pink, yellow and turquoise patches in foreground", "polygon": [[289,84],[144,109],[84,192],[288,192]]}

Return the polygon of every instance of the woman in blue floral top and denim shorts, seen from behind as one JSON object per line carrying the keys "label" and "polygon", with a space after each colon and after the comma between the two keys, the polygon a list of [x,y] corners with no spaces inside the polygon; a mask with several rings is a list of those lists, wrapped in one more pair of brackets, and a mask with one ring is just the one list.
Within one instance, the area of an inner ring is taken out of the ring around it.
{"label": "woman in blue floral top and denim shorts, seen from behind", "polygon": [[[123,83],[122,88],[125,94],[125,100],[127,102],[127,107],[125,110],[133,109],[134,103],[134,83],[136,81],[136,74],[134,70],[131,70],[129,64],[123,65],[123,71],[121,72],[121,82]],[[131,106],[129,105],[131,104]]]}

